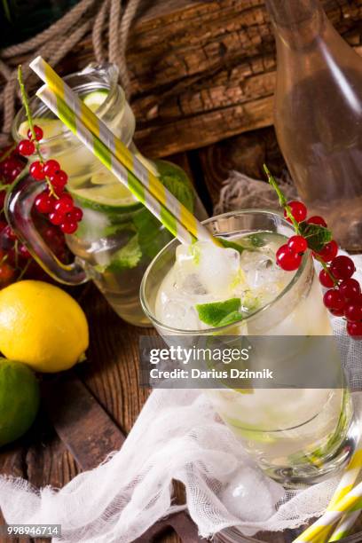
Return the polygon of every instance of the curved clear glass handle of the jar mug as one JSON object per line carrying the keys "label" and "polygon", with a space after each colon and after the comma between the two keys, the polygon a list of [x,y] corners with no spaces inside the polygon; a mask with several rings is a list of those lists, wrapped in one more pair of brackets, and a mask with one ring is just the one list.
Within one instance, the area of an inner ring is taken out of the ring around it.
{"label": "curved clear glass handle of the jar mug", "polygon": [[12,230],[27,248],[35,261],[53,279],[65,285],[80,285],[87,281],[86,272],[78,262],[62,264],[37,231],[31,210],[36,197],[46,188],[30,176],[20,177],[5,201],[5,216]]}

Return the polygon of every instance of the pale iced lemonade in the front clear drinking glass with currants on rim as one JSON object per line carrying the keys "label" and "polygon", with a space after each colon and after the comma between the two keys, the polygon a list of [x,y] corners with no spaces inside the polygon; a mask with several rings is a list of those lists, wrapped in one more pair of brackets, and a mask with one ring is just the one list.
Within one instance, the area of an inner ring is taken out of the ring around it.
{"label": "pale iced lemonade in the front clear drinking glass with currants on rim", "polygon": [[[284,219],[250,211],[210,221],[240,248],[173,242],[143,281],[144,309],[166,341],[168,334],[180,342],[198,334],[332,334],[311,256],[293,272],[275,263],[277,249],[291,235]],[[240,300],[239,315],[218,314],[220,303],[234,299]],[[344,388],[224,387],[208,393],[248,453],[283,484],[314,482],[344,465],[353,450],[350,395]]]}

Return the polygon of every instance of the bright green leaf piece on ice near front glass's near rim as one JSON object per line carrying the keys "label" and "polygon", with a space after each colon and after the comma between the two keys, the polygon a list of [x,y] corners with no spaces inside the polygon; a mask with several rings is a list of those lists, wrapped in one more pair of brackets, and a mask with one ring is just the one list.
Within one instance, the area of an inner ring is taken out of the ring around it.
{"label": "bright green leaf piece on ice near front glass's near rim", "polygon": [[230,298],[224,302],[197,303],[199,319],[209,327],[223,327],[240,320],[240,298]]}

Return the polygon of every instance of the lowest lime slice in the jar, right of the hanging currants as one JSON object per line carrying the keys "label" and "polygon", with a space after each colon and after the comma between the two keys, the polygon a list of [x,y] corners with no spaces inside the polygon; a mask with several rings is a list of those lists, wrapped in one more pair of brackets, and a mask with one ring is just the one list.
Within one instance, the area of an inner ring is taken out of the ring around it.
{"label": "lowest lime slice in the jar, right of the hanging currants", "polygon": [[121,183],[94,185],[90,188],[74,190],[69,187],[69,191],[84,207],[91,209],[130,210],[140,205],[133,194]]}

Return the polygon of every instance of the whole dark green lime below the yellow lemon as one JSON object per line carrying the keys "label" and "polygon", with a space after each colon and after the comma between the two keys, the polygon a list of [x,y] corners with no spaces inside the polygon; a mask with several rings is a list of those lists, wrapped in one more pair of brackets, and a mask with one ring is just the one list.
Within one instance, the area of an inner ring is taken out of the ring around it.
{"label": "whole dark green lime below the yellow lemon", "polygon": [[32,370],[0,358],[0,446],[22,436],[33,424],[40,392]]}

